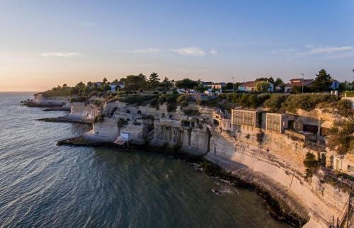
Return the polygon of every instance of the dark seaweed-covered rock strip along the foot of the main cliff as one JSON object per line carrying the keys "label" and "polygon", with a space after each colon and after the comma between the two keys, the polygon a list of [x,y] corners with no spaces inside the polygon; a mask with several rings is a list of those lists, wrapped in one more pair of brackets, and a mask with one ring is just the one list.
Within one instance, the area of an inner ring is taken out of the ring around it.
{"label": "dark seaweed-covered rock strip along the foot of the main cliff", "polygon": [[[261,198],[263,198],[264,201],[262,204],[265,206],[265,209],[276,220],[280,220],[282,222],[290,224],[293,227],[302,227],[309,221],[309,217],[306,215],[306,213],[302,213],[299,210],[295,211],[291,209],[291,207],[302,208],[302,206],[297,204],[295,200],[290,200],[290,195],[287,195],[282,191],[279,191],[280,194],[276,194],[275,190],[270,191],[269,188],[265,188],[264,185],[256,183],[256,181],[250,181],[250,178],[244,178],[242,174],[247,173],[248,175],[251,175],[251,171],[242,171],[240,169],[240,173],[238,175],[237,172],[227,171],[221,166],[203,158],[202,156],[183,152],[183,150],[181,150],[179,147],[149,147],[147,144],[130,144],[130,147],[120,147],[113,144],[113,142],[100,142],[91,139],[85,139],[81,136],[60,140],[57,142],[57,145],[66,145],[73,147],[114,147],[116,149],[119,149],[120,151],[130,151],[130,149],[144,149],[144,151],[147,152],[157,152],[166,156],[173,156],[176,159],[183,159],[184,161],[188,162],[188,164],[195,166],[196,170],[201,171],[202,173],[205,173],[208,176],[218,178],[236,188],[244,188],[256,191],[256,193],[260,195]],[[274,186],[271,183],[269,184],[271,186]],[[292,203],[292,205],[289,205],[290,202]]]}

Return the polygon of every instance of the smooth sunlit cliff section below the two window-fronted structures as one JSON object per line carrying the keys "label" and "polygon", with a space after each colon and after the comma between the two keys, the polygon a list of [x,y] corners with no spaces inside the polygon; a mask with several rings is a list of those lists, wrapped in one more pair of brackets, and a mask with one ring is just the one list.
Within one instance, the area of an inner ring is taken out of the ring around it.
{"label": "smooth sunlit cliff section below the two window-fronted structures", "polygon": [[[213,161],[235,176],[267,189],[275,195],[282,195],[290,205],[292,211],[299,215],[304,213],[301,204],[306,208],[311,217],[311,226],[328,227],[332,216],[338,216],[348,194],[338,188],[321,183],[314,176],[311,182],[304,180],[304,154],[309,149],[297,147],[291,139],[283,135],[265,135],[266,142],[261,146],[250,137],[243,138],[238,134],[232,137],[212,137],[212,152],[207,154],[207,159]],[[296,143],[296,142],[295,142]],[[249,173],[248,171],[253,171]],[[255,173],[256,174],[255,174]],[[263,177],[263,178],[262,178]],[[277,183],[280,188],[274,188],[268,181]],[[295,198],[291,200],[291,198]]]}

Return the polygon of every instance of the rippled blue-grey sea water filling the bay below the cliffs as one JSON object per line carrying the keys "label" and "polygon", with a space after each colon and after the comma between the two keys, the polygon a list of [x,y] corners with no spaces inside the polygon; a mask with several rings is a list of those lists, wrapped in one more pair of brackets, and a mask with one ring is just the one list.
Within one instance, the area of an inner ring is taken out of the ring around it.
{"label": "rippled blue-grey sea water filling the bay below the cliffs", "polygon": [[[261,198],[178,159],[147,152],[57,147],[82,125],[0,93],[0,227],[289,227]],[[229,189],[216,195],[210,190]]]}

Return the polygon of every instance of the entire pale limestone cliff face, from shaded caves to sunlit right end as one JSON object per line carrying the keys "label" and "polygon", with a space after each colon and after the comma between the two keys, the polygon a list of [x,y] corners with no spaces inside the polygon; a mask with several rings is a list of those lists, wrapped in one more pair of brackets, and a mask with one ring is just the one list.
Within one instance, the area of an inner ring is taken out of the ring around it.
{"label": "entire pale limestone cliff face, from shaded caves to sunlit right end", "polygon": [[113,142],[125,132],[130,134],[132,144],[179,147],[204,156],[234,176],[267,190],[282,202],[282,210],[310,217],[307,227],[328,227],[348,199],[347,193],[321,183],[316,176],[304,180],[304,157],[307,152],[318,152],[275,132],[265,131],[260,142],[258,129],[236,130],[231,120],[221,118],[214,108],[192,105],[168,112],[166,105],[156,109],[114,102],[100,110],[74,103],[69,115],[91,121],[98,113],[105,118],[93,123],[93,130],[84,135],[87,139]]}

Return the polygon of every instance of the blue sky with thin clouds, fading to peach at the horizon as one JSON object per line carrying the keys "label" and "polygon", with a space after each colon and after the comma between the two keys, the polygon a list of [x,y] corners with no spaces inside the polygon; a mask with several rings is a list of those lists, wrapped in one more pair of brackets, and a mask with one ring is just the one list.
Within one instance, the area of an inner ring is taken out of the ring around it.
{"label": "blue sky with thin clouds, fading to peach at the horizon", "polygon": [[129,74],[352,81],[354,1],[0,0],[0,91]]}

